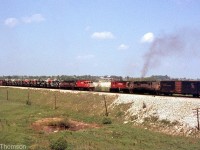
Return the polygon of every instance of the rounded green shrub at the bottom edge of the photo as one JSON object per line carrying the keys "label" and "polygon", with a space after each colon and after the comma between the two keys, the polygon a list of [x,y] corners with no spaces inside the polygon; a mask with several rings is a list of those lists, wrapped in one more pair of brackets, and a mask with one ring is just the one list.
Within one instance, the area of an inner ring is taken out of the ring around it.
{"label": "rounded green shrub at the bottom edge of the photo", "polygon": [[68,144],[64,137],[60,137],[55,141],[50,141],[51,150],[65,150],[67,146]]}

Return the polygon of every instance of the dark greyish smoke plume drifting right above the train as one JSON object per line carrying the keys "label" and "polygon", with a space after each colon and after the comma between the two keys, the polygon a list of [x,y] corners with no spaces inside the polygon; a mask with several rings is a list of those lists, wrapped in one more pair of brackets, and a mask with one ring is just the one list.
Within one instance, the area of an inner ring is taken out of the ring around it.
{"label": "dark greyish smoke plume drifting right above the train", "polygon": [[200,50],[199,43],[200,32],[197,30],[182,30],[155,38],[144,55],[141,77],[145,77],[149,69],[160,65],[164,57],[182,55],[184,52],[190,52],[191,48],[192,51]]}

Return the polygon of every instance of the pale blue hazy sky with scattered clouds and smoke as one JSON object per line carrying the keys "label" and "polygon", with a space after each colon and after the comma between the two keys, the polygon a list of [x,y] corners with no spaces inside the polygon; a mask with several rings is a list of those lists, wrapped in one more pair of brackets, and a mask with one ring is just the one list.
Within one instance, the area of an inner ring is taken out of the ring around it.
{"label": "pale blue hazy sky with scattered clouds and smoke", "polygon": [[0,75],[200,78],[200,0],[0,0]]}

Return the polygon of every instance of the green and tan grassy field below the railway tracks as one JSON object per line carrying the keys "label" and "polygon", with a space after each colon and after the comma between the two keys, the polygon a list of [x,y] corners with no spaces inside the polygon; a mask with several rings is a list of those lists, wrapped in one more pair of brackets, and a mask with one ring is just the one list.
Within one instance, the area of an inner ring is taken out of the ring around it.
{"label": "green and tan grassy field below the railway tracks", "polygon": [[[106,97],[107,105],[114,99],[114,96]],[[123,124],[123,107],[126,106],[108,109],[112,124],[106,125],[102,124],[105,117],[103,96],[0,87],[0,144],[26,145],[27,149],[48,150],[53,141],[62,138],[68,144],[67,149],[75,150],[200,149],[199,139],[170,136],[134,127],[129,123]],[[51,117],[96,123],[100,127],[55,133],[33,129],[35,121]]]}

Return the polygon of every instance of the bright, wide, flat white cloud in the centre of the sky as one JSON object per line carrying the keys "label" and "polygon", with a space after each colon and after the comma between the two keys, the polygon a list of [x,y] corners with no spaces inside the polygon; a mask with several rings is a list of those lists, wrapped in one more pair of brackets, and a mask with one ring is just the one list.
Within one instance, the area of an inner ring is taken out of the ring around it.
{"label": "bright, wide, flat white cloud in the centre of the sky", "polygon": [[114,35],[111,32],[94,32],[91,36],[93,39],[100,39],[100,40],[105,40],[105,39],[113,39]]}

